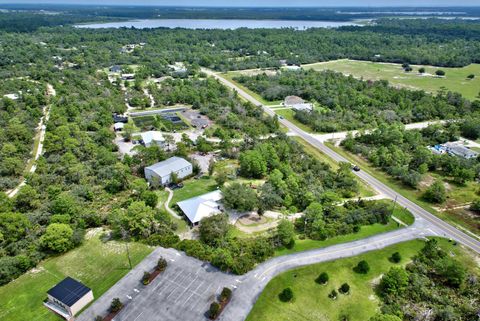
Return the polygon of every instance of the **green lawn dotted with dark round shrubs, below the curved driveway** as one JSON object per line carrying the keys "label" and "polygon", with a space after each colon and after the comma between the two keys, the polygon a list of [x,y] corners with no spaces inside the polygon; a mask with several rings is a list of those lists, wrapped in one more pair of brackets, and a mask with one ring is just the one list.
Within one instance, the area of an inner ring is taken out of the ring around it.
{"label": "green lawn dotted with dark round shrubs, below the curved driveway", "polygon": [[[455,253],[457,259],[465,261],[472,269],[476,266],[473,258],[459,246],[454,246],[445,239],[439,239],[439,244],[450,253]],[[348,316],[349,321],[367,321],[379,311],[380,300],[375,295],[374,285],[382,274],[396,265],[388,258],[394,252],[400,252],[402,261],[399,265],[408,263],[424,245],[422,240],[399,243],[382,250],[368,252],[356,257],[339,259],[315,265],[294,269],[272,279],[260,295],[258,301],[248,315],[247,321],[337,321],[340,316]],[[359,261],[366,260],[370,272],[360,275],[353,272]],[[315,279],[322,272],[327,272],[330,281],[319,285]],[[339,294],[337,300],[328,298],[328,294],[347,282],[350,294]],[[284,303],[279,300],[279,293],[286,287],[294,292],[294,301]]]}

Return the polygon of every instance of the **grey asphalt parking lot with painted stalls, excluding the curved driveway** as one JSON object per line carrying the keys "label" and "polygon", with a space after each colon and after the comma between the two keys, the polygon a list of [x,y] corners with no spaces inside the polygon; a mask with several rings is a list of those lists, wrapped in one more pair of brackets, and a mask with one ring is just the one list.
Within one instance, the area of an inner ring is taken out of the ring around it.
{"label": "grey asphalt parking lot with painted stalls, excluding the curved driveway", "polygon": [[[160,255],[167,259],[167,269],[148,286],[141,285],[141,274],[153,269]],[[210,303],[222,288],[234,290],[241,283],[238,276],[223,273],[172,249],[159,248],[146,261],[149,261],[148,266],[136,268],[135,273],[117,283],[78,320],[93,320],[95,315],[106,314],[111,299],[118,297],[125,307],[114,321],[203,321],[207,320]]]}

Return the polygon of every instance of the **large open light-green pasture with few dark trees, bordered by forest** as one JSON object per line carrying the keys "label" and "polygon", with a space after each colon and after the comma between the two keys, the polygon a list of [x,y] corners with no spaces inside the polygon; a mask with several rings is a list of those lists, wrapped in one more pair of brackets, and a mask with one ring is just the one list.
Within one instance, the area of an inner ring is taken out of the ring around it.
{"label": "large open light-green pasture with few dark trees, bordered by forest", "polygon": [[[418,73],[420,67],[425,68],[424,75]],[[470,100],[475,99],[480,91],[480,64],[471,64],[463,68],[412,65],[413,71],[404,72],[401,64],[342,59],[304,65],[303,68],[330,69],[356,78],[363,77],[370,80],[385,79],[392,85],[422,89],[431,93],[437,93],[442,87],[445,87],[447,90],[461,93]],[[445,77],[435,76],[435,71],[438,69],[445,71]],[[470,74],[475,75],[473,80],[467,79]]]}

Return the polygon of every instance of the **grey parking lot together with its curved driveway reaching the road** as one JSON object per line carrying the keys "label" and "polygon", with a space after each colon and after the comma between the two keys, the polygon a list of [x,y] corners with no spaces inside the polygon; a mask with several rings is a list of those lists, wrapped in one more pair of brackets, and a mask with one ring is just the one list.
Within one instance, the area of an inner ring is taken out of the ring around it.
{"label": "grey parking lot together with its curved driveway reaching the road", "polygon": [[[92,321],[105,316],[113,298],[125,304],[115,321],[206,321],[210,303],[223,287],[233,290],[230,303],[219,320],[245,320],[267,283],[287,270],[344,257],[356,256],[389,245],[433,235],[419,223],[362,240],[299,252],[270,259],[244,275],[219,271],[208,263],[174,249],[157,248],[125,277],[82,312],[77,321]],[[160,256],[168,267],[151,284],[140,280],[151,271]]]}

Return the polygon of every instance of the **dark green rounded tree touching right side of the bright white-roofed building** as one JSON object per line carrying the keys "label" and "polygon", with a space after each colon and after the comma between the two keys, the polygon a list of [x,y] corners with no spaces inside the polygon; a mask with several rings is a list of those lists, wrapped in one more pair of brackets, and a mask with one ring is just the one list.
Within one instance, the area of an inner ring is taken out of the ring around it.
{"label": "dark green rounded tree touching right side of the bright white-roofed building", "polygon": [[248,185],[232,183],[222,189],[223,204],[228,209],[252,211],[258,206],[257,193]]}

